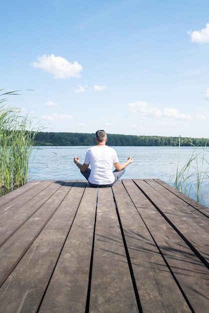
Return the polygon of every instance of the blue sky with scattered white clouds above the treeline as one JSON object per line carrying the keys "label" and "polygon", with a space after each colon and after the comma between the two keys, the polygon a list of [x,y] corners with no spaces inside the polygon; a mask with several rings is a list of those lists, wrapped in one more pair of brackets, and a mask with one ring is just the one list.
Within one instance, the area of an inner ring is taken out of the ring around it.
{"label": "blue sky with scattered white clouds above the treeline", "polygon": [[44,131],[209,137],[208,12],[208,0],[2,1],[0,88],[21,89],[8,104]]}

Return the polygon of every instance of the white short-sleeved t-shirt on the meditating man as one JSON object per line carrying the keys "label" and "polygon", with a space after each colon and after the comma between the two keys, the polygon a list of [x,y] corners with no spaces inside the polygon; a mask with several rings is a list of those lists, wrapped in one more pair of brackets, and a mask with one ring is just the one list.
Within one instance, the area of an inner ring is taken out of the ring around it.
{"label": "white short-sleeved t-shirt on the meditating man", "polygon": [[90,164],[88,181],[93,184],[110,184],[114,181],[113,163],[118,162],[117,153],[107,145],[92,146],[85,154],[85,164]]}

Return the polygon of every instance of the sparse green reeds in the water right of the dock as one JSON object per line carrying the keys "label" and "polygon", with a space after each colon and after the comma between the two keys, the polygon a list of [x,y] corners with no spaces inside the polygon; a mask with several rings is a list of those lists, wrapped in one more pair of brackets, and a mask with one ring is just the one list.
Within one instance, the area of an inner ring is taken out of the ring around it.
{"label": "sparse green reeds in the water right of the dock", "polygon": [[[190,195],[191,192],[195,192],[196,201],[200,202],[202,184],[205,182],[205,179],[209,178],[209,155],[206,155],[209,151],[205,148],[205,146],[193,147],[194,149],[191,156],[180,169],[179,164],[177,164],[173,187],[186,195]],[[173,179],[171,180],[173,181]]]}

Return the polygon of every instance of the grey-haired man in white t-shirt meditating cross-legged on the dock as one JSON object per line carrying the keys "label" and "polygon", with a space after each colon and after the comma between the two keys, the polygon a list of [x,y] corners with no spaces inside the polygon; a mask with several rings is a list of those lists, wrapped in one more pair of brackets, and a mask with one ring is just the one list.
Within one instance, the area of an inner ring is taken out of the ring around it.
{"label": "grey-haired man in white t-shirt meditating cross-legged on the dock", "polygon": [[[104,130],[96,131],[96,145],[87,149],[84,163],[79,162],[79,157],[74,157],[74,163],[81,174],[88,180],[92,187],[110,187],[125,172],[125,167],[132,163],[132,157],[120,164],[116,151],[106,145],[107,136]],[[91,168],[88,168],[90,165]],[[112,165],[115,170],[112,172]]]}

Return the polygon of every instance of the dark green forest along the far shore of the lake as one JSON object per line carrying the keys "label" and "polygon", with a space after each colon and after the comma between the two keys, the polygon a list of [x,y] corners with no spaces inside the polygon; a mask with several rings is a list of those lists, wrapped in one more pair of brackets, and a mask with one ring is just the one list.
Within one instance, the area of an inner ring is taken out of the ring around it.
{"label": "dark green forest along the far shore of the lake", "polygon": [[[209,146],[208,138],[107,134],[110,146]],[[37,132],[34,145],[94,145],[95,133]]]}

